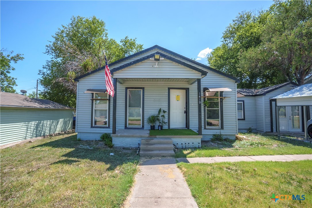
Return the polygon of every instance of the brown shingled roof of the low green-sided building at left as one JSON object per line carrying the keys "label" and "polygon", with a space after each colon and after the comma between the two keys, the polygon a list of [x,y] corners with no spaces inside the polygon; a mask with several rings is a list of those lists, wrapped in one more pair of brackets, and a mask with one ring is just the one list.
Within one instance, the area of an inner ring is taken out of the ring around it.
{"label": "brown shingled roof of the low green-sided building at left", "polygon": [[26,95],[0,92],[0,106],[42,109],[73,109],[51,100],[29,98]]}

